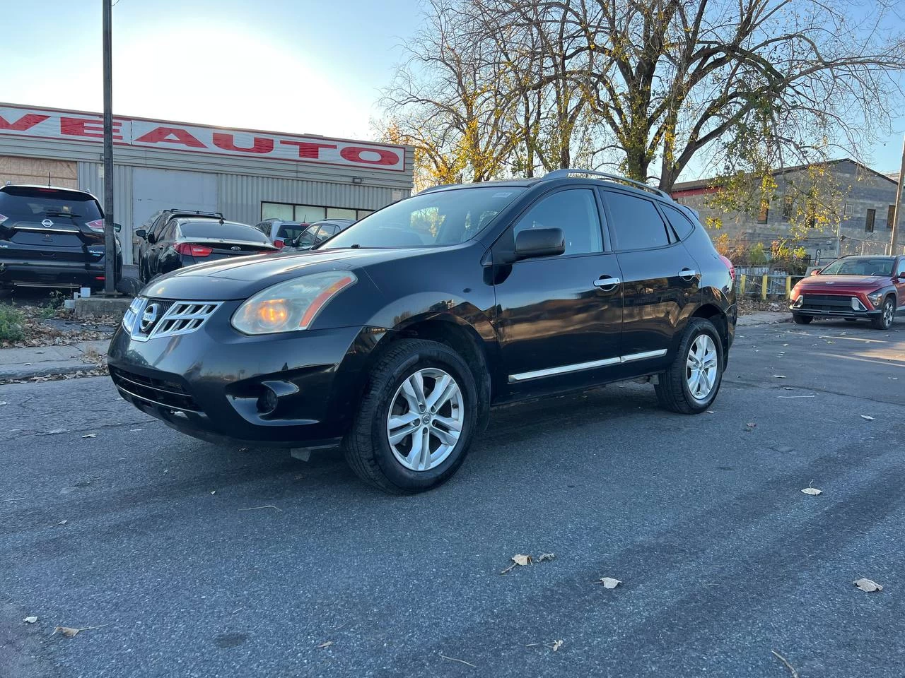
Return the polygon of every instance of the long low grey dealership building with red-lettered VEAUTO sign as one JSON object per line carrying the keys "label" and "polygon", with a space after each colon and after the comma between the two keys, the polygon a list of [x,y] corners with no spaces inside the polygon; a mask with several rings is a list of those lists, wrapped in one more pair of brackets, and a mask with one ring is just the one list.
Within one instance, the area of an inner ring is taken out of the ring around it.
{"label": "long low grey dealership building with red-lettered VEAUTO sign", "polygon": [[[357,219],[412,192],[408,146],[114,116],[113,215],[126,263],[158,210],[255,224]],[[0,184],[104,193],[102,118],[0,103]]]}

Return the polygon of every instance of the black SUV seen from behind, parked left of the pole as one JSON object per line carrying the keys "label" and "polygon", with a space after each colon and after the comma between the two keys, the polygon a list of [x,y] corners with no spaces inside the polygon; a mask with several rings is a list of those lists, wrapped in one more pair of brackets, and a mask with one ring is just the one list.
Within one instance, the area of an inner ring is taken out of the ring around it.
{"label": "black SUV seen from behind, parked left of the pole", "polygon": [[[0,186],[0,287],[91,287],[105,279],[104,216],[90,193]],[[122,253],[116,240],[116,274]]]}

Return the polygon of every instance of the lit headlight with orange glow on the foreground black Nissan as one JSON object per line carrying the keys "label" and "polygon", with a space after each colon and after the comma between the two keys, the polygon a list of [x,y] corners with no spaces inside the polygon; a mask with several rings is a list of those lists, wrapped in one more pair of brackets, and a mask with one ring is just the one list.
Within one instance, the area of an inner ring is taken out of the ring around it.
{"label": "lit headlight with orange glow on the foreground black Nissan", "polygon": [[243,334],[308,329],[320,309],[357,279],[349,271],[329,271],[287,280],[250,297],[239,306],[231,322]]}

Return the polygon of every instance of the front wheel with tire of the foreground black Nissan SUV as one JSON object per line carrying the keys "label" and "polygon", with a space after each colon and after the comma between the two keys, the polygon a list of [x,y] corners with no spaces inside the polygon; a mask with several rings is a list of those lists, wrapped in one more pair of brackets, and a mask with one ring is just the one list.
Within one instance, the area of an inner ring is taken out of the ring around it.
{"label": "front wheel with tire of the foreground black Nissan SUV", "polygon": [[[443,384],[440,398],[453,394],[432,415],[430,401]],[[367,484],[389,494],[415,494],[442,485],[462,466],[471,447],[479,419],[477,403],[472,371],[449,346],[420,339],[395,342],[371,369],[343,439],[348,465]],[[402,436],[395,444],[390,442],[391,430],[394,438]],[[419,454],[424,435],[427,454]]]}

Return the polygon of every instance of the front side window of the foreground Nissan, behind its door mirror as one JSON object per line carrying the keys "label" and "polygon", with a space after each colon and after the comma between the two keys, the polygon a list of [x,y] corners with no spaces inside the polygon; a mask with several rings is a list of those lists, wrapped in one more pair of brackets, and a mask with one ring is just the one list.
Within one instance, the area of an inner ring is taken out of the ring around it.
{"label": "front side window of the foreground Nissan, behind its door mirror", "polygon": [[597,203],[590,189],[560,191],[542,198],[519,220],[514,233],[528,229],[562,229],[566,254],[604,250]]}

